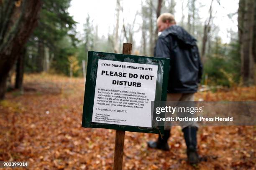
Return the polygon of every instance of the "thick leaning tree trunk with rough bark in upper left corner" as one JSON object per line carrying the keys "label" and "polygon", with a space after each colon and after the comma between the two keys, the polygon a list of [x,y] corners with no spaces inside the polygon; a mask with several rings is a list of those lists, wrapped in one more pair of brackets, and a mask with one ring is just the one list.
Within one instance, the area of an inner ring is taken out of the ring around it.
{"label": "thick leaning tree trunk with rough bark in upper left corner", "polygon": [[41,0],[0,1],[0,100],[8,72],[36,27]]}

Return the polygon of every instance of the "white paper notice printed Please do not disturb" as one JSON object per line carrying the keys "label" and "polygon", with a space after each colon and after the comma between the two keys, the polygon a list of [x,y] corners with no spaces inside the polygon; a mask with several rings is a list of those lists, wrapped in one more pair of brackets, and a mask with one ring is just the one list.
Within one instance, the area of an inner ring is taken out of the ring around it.
{"label": "white paper notice printed Please do not disturb", "polygon": [[99,60],[92,122],[151,128],[157,65]]}

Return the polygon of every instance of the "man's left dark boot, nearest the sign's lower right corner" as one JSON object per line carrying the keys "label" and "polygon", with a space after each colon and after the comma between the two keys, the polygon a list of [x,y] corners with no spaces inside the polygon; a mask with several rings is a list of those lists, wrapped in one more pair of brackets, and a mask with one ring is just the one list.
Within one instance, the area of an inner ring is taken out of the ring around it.
{"label": "man's left dark boot, nearest the sign's lower right corner", "polygon": [[170,150],[167,143],[170,137],[170,131],[171,130],[164,130],[163,138],[161,138],[161,135],[159,135],[157,141],[148,141],[148,147],[160,150]]}

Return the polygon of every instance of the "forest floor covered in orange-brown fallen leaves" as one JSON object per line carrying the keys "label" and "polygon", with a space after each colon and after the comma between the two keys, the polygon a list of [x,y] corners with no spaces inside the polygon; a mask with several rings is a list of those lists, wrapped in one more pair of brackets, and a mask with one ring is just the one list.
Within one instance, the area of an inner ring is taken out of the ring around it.
{"label": "forest floor covered in orange-brown fallen leaves", "polygon": [[[200,92],[196,100],[256,100],[256,87]],[[31,170],[112,169],[115,130],[81,128],[82,78],[25,75],[24,94],[11,91],[0,102],[0,161],[27,161]],[[125,132],[123,169],[255,169],[255,126],[210,126],[198,131],[204,158],[187,163],[180,127],[172,128],[170,151],[148,149],[158,135]]]}

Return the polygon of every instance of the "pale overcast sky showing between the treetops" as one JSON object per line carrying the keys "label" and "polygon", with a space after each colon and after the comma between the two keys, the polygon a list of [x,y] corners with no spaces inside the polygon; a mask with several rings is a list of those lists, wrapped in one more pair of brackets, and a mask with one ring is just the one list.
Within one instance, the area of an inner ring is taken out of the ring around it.
{"label": "pale overcast sky showing between the treetops", "polygon": [[[187,4],[187,0],[184,0]],[[182,16],[181,11],[181,0],[176,0],[177,5],[175,7],[176,21],[179,22]],[[201,21],[204,22],[208,16],[208,10],[210,7],[211,0],[197,0],[197,7],[199,8],[199,15]],[[132,23],[136,12],[141,11],[141,0],[122,0],[123,13],[120,14],[120,27],[123,24],[123,18],[125,23]],[[98,34],[99,36],[104,35],[107,37],[108,30],[113,30],[115,25],[115,7],[116,0],[72,0],[71,7],[69,7],[70,15],[74,16],[74,20],[77,21],[77,32],[82,33],[83,24],[86,21],[87,14],[93,20],[94,25],[98,25]],[[197,8],[198,9],[198,8]],[[214,0],[213,3],[213,15],[215,16],[213,22],[215,25],[220,27],[219,35],[222,37],[223,42],[228,42],[229,34],[227,30],[230,28],[234,31],[237,31],[237,15],[234,15],[232,20],[228,18],[228,14],[236,13],[238,10],[238,0],[220,0],[220,5],[217,3],[217,0]],[[185,16],[186,13],[185,13]],[[185,18],[186,20],[186,18]],[[136,17],[135,30],[139,30],[139,25],[141,25],[142,20],[139,15]],[[134,35],[136,44],[140,44],[141,32],[137,32]]]}

